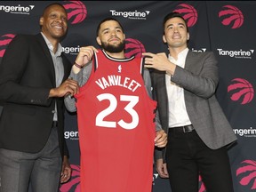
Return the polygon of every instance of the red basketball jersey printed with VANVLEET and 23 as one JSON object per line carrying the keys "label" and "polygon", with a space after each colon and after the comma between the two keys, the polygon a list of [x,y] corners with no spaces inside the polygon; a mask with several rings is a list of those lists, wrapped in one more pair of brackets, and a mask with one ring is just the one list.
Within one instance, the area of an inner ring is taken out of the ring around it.
{"label": "red basketball jersey printed with VANVLEET and 23", "polygon": [[156,101],[141,76],[142,59],[94,54],[92,74],[76,94],[82,192],[150,192]]}

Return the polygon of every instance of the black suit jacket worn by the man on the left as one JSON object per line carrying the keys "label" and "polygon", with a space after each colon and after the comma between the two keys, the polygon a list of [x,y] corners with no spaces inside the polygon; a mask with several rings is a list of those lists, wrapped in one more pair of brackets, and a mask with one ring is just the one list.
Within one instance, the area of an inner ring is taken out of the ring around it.
{"label": "black suit jacket worn by the man on the left", "polygon": [[[64,55],[61,57],[65,80],[71,64]],[[56,101],[60,152],[68,156],[63,98],[48,99],[55,84],[52,56],[44,37],[41,34],[15,36],[0,65],[0,100],[4,100],[0,148],[29,153],[43,149],[52,129]]]}

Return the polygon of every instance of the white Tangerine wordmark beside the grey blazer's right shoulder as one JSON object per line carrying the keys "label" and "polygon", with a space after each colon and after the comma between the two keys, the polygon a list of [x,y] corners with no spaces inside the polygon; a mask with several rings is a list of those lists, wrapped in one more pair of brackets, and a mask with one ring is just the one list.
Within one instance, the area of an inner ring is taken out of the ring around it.
{"label": "white Tangerine wordmark beside the grey blazer's right shoulder", "polygon": [[254,50],[249,50],[249,51],[244,51],[242,49],[240,50],[222,50],[222,49],[217,49],[219,52],[220,56],[229,56],[231,58],[236,58],[236,59],[252,59],[252,54]]}

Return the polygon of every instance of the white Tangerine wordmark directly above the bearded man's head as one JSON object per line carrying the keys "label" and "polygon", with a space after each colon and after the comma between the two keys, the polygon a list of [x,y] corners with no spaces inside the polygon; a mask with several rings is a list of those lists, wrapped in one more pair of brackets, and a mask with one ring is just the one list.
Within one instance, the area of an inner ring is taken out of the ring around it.
{"label": "white Tangerine wordmark directly above the bearded man's head", "polygon": [[109,10],[109,12],[111,12],[111,15],[115,17],[120,16],[131,20],[147,20],[147,16],[150,11],[137,12],[137,10],[135,10],[132,12],[118,12],[116,10]]}

